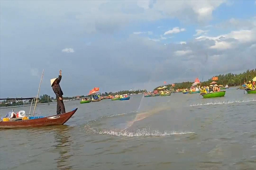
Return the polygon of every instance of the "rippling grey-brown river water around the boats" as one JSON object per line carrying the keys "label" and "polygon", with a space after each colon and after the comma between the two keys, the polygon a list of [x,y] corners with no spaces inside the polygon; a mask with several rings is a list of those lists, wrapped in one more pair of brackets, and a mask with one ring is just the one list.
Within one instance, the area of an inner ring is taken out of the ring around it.
{"label": "rippling grey-brown river water around the boats", "polygon": [[256,95],[243,90],[65,107],[78,110],[63,126],[1,130],[0,169],[256,169]]}

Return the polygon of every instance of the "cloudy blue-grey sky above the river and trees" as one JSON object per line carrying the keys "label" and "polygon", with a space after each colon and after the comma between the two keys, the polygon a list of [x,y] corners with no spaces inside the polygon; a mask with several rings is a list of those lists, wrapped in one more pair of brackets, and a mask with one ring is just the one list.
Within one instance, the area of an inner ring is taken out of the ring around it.
{"label": "cloudy blue-grey sky above the river and trees", "polygon": [[0,1],[0,97],[147,89],[256,68],[256,1]]}

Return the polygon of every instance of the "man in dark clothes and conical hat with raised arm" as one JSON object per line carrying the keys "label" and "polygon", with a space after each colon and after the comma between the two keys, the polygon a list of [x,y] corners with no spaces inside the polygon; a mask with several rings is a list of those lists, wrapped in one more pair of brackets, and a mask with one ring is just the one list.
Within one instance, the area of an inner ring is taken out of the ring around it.
{"label": "man in dark clothes and conical hat with raised arm", "polygon": [[57,98],[57,115],[59,115],[61,113],[66,113],[65,106],[63,103],[63,98],[62,98],[63,92],[62,92],[62,90],[60,88],[60,84],[59,84],[61,77],[62,76],[61,76],[61,70],[60,70],[59,78],[51,79],[52,90],[56,94],[56,98]]}

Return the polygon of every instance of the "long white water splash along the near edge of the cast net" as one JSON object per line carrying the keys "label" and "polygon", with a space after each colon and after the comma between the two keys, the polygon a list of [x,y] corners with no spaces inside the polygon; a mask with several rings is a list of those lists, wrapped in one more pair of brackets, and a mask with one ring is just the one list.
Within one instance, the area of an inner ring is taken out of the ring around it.
{"label": "long white water splash along the near edge of the cast net", "polygon": [[192,134],[194,132],[187,131],[159,131],[159,130],[150,130],[147,128],[136,129],[135,131],[114,131],[114,130],[95,130],[91,129],[93,133],[96,134],[107,134],[111,136],[123,136],[123,137],[134,137],[134,136],[168,136],[168,135],[183,135],[183,134]]}

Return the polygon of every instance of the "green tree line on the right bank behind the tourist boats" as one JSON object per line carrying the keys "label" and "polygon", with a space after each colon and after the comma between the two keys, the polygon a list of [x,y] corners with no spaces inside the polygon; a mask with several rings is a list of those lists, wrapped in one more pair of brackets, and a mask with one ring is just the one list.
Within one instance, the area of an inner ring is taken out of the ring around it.
{"label": "green tree line on the right bank behind the tourist boats", "polygon": [[[240,86],[244,84],[244,82],[248,82],[249,80],[252,80],[256,76],[256,68],[252,70],[247,70],[246,72],[240,73],[240,74],[233,74],[233,73],[228,73],[228,74],[220,74],[216,75],[213,77],[218,77],[218,80],[216,81],[217,84],[221,85],[228,85],[228,86]],[[202,82],[202,86],[209,86],[209,84],[212,82],[212,79],[208,79],[207,81]],[[181,83],[174,83],[175,87],[174,89],[182,89],[182,88],[190,88],[191,84],[194,82],[181,82]],[[165,85],[168,88],[172,87],[171,84]],[[158,86],[154,90],[156,90],[159,87],[163,86]]]}

